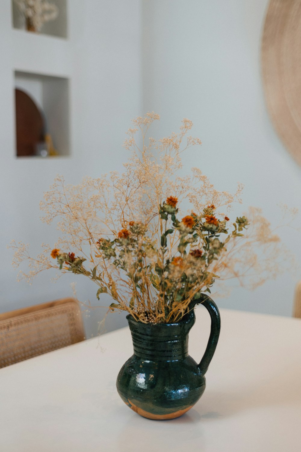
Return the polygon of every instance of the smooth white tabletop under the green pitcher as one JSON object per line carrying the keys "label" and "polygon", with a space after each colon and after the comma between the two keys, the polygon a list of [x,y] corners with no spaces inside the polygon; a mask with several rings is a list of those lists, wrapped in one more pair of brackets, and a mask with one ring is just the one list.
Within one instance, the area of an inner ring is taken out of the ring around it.
{"label": "smooth white tabletop under the green pitcher", "polygon": [[[199,361],[209,315],[200,306],[196,317]],[[204,395],[177,419],[144,419],[117,394],[128,328],[0,369],[1,452],[300,452],[301,320],[221,317]]]}

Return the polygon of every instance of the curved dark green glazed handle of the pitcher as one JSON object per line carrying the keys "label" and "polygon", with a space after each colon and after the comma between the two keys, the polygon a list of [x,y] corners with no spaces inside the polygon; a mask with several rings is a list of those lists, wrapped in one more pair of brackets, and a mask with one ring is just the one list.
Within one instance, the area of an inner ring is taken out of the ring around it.
{"label": "curved dark green glazed handle of the pitcher", "polygon": [[[202,299],[203,301],[201,301]],[[209,364],[213,358],[216,346],[218,344],[218,337],[221,330],[221,317],[218,311],[218,306],[216,306],[214,301],[206,294],[202,294],[201,299],[199,300],[193,300],[192,306],[195,306],[197,303],[200,303],[203,306],[205,306],[211,317],[211,330],[208,339],[208,344],[204,356],[198,365],[200,372],[203,375],[205,375],[205,373],[208,370]]]}

